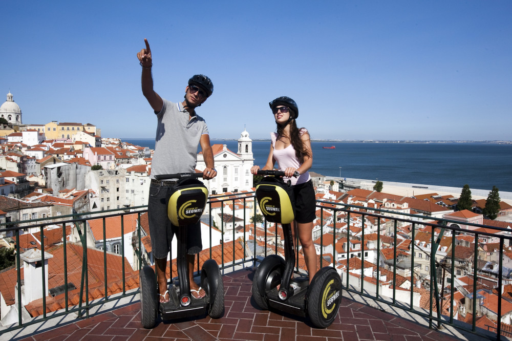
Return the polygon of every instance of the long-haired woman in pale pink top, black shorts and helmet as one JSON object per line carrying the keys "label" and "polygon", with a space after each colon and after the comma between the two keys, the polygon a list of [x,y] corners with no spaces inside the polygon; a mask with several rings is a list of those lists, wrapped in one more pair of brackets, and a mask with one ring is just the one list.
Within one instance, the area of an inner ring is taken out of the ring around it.
{"label": "long-haired woman in pale pink top, black shorts and helmet", "polygon": [[[282,96],[270,103],[277,124],[277,133],[271,134],[270,153],[264,171],[273,169],[275,161],[279,170],[285,172],[285,180],[291,180],[295,195],[295,221],[293,239],[298,233],[309,273],[309,283],[316,273],[316,250],[313,245],[313,220],[316,218],[315,192],[308,170],[313,164],[311,141],[305,128],[297,129],[297,103],[290,97]],[[251,173],[257,174],[260,166],[252,166]],[[300,176],[293,177],[297,171]]]}

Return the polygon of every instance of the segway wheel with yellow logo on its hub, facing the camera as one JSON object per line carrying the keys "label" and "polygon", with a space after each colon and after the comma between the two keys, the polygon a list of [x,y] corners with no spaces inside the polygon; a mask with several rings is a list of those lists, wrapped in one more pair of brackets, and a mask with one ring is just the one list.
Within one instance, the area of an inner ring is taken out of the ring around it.
{"label": "segway wheel with yellow logo on its hub, facing the camera", "polygon": [[307,294],[307,312],[316,328],[329,327],[338,315],[342,300],[342,280],[331,267],[318,271]]}

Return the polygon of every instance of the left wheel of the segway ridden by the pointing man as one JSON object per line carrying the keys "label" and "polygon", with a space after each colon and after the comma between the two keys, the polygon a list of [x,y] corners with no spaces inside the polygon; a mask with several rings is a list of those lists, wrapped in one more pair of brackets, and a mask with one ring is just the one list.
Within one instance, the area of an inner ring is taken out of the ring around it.
{"label": "left wheel of the segway ridden by the pointing man", "polygon": [[157,319],[157,281],[151,266],[144,266],[139,271],[140,313],[142,327],[150,329]]}

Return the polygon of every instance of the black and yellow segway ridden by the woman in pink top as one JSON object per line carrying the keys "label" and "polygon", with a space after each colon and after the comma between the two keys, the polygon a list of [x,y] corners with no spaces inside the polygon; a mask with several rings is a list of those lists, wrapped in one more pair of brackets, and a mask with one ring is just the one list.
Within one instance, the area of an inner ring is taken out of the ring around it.
{"label": "black and yellow segway ridden by the woman in pink top", "polygon": [[252,297],[262,309],[307,316],[316,328],[326,328],[338,314],[342,281],[330,266],[316,272],[311,284],[307,277],[293,273],[293,187],[290,181],[283,181],[284,172],[258,171],[258,174],[266,177],[256,186],[256,198],[266,220],[283,227],[285,259],[276,254],[263,259],[252,280]]}

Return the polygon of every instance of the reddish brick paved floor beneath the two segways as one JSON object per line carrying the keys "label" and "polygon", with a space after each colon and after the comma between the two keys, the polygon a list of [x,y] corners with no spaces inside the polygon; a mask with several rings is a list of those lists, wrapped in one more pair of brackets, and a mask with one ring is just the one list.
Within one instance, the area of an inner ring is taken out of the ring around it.
{"label": "reddish brick paved floor beneath the two segways", "polygon": [[96,314],[62,327],[55,327],[24,340],[456,340],[393,314],[376,310],[343,297],[334,323],[315,329],[305,318],[281,315],[255,308],[251,302],[254,271],[244,269],[223,276],[225,313],[219,319],[199,316],[157,322],[144,329],[140,304]]}

